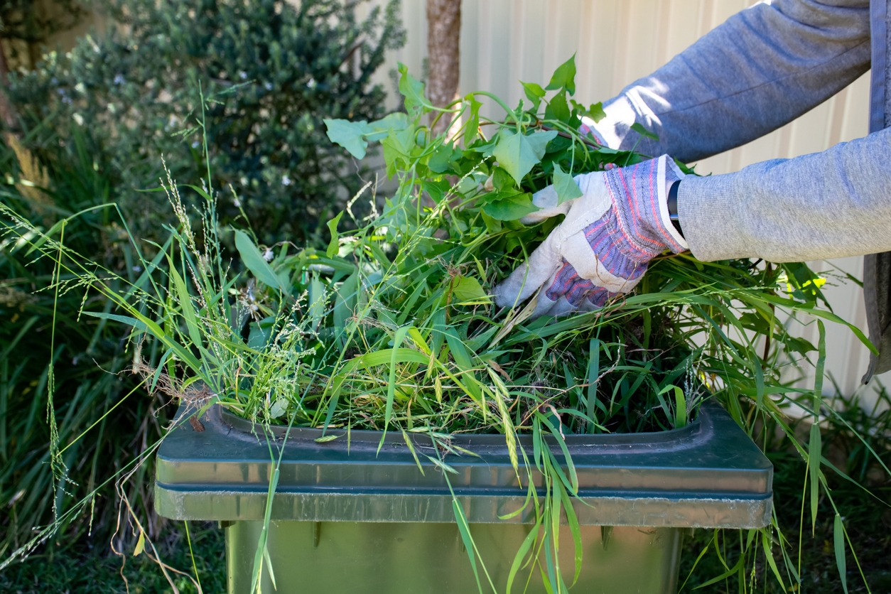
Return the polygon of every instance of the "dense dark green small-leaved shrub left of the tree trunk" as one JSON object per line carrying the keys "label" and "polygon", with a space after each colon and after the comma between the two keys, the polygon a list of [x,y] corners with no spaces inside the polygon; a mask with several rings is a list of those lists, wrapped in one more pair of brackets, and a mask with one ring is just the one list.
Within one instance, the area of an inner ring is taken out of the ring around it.
{"label": "dense dark green small-leaved shrub left of the tree trunk", "polygon": [[[217,190],[233,185],[241,202],[226,191],[222,224],[243,214],[266,243],[302,242],[356,190],[323,116],[380,116],[384,92],[372,73],[404,41],[395,1],[364,20],[356,4],[103,0],[107,35],[11,75],[22,126],[36,130],[26,146],[41,159],[58,143],[73,155],[80,130],[137,236],[172,222],[166,203],[135,191],[159,178],[163,154],[180,179],[209,169]],[[214,100],[204,114],[209,163],[194,126],[200,93]]]}

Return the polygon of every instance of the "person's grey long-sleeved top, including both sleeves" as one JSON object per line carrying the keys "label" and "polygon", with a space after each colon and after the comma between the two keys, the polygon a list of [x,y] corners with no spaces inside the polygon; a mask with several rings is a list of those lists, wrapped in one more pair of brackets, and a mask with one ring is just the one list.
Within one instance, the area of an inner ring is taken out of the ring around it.
{"label": "person's grey long-sleeved top, including both sleeves", "polygon": [[[891,0],[774,0],[728,19],[606,102],[598,131],[630,149],[691,162],[767,134],[872,67],[870,132],[827,151],[688,176],[678,215],[700,260],[774,262],[866,255],[872,373],[891,370]],[[867,106],[863,106],[863,117]]]}

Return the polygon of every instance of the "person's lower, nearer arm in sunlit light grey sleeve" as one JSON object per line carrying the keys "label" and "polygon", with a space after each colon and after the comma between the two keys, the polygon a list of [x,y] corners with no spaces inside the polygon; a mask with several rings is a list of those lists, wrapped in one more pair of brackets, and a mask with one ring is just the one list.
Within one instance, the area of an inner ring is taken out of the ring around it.
{"label": "person's lower, nearer arm in sunlit light grey sleeve", "polygon": [[687,175],[683,234],[699,260],[796,262],[891,250],[891,128],[725,175]]}

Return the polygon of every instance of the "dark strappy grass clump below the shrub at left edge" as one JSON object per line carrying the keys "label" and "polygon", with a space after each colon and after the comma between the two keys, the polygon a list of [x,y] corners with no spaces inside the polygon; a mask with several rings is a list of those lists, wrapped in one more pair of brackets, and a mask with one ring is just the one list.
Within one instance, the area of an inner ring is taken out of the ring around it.
{"label": "dark strappy grass clump below the shrub at left edge", "polygon": [[[12,220],[4,216],[0,239],[0,557],[57,520],[63,545],[89,533],[106,541],[115,495],[98,485],[161,435],[166,414],[159,401],[134,391],[138,382],[124,373],[127,327],[82,315],[110,312],[113,302],[73,290],[76,275],[56,275],[53,259],[30,251],[40,233],[59,232],[67,221],[66,246],[116,271],[107,279],[110,290],[135,281],[139,260],[114,206],[103,205],[102,169],[78,135],[78,159],[51,154],[46,167],[13,142],[0,151],[0,168],[17,183],[0,186],[0,204],[39,226],[11,236]],[[148,466],[128,485],[130,499],[147,514],[150,477]],[[62,509],[85,498],[89,513],[61,518]]]}

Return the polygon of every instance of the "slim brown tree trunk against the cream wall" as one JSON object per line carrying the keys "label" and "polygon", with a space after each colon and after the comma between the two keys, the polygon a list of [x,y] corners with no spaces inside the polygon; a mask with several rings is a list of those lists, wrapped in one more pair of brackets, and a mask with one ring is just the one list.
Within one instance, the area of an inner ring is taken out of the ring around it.
{"label": "slim brown tree trunk against the cream wall", "polygon": [[[446,107],[459,97],[460,39],[461,0],[427,0],[427,94],[437,107]],[[431,123],[437,115],[438,112],[430,114]],[[433,133],[441,134],[451,119],[450,114],[443,114]]]}

